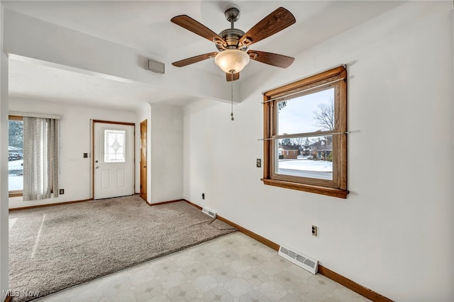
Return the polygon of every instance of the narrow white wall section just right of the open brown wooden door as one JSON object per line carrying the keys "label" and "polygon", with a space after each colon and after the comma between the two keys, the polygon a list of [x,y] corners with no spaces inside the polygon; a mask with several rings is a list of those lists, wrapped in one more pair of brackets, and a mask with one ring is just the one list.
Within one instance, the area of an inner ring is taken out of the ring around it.
{"label": "narrow white wall section just right of the open brown wooden door", "polygon": [[[150,203],[183,198],[183,111],[179,106],[151,104]],[[150,123],[149,122],[149,123]]]}

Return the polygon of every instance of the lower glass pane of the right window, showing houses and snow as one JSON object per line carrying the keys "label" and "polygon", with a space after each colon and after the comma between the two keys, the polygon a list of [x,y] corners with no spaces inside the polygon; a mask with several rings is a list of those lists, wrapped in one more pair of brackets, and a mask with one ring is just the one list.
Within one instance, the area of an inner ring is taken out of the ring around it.
{"label": "lower glass pane of the right window, showing houses and snow", "polygon": [[276,173],[333,179],[333,136],[276,140]]}

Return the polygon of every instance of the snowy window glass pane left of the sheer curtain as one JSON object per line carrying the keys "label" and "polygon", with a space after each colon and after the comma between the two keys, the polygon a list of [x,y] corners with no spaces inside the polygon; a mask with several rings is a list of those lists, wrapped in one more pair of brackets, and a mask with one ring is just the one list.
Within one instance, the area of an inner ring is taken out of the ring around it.
{"label": "snowy window glass pane left of the sheer curtain", "polygon": [[9,120],[8,189],[23,189],[23,121]]}

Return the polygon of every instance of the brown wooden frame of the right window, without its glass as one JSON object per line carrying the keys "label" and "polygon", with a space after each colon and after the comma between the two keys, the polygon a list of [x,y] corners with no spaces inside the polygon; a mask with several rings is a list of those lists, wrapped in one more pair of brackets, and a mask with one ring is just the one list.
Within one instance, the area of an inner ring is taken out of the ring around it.
{"label": "brown wooden frame of the right window, without its glass", "polygon": [[[334,129],[303,133],[304,135],[333,135],[333,180],[296,177],[275,172],[277,150],[275,140],[299,137],[301,133],[277,135],[277,102],[334,88]],[[347,69],[336,67],[311,77],[266,91],[263,95],[264,184],[307,191],[327,196],[347,198]]]}

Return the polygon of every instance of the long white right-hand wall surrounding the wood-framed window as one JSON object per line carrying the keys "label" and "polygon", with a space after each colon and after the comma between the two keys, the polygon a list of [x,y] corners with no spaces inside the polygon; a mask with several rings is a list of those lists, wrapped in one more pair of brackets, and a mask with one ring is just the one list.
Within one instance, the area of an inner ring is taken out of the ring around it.
{"label": "long white right-hand wall surrounding the wood-framed window", "polygon": [[[409,2],[244,81],[234,122],[187,106],[184,198],[388,298],[453,301],[452,22],[450,1]],[[265,186],[261,92],[343,63],[348,198]]]}

